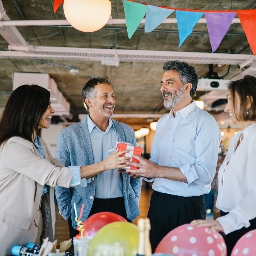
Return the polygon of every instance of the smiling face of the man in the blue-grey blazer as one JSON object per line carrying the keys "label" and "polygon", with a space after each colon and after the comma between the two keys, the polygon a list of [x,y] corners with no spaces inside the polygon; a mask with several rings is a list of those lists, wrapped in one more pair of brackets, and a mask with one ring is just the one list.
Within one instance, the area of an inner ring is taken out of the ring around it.
{"label": "smiling face of the man in the blue-grey blazer", "polygon": [[99,113],[111,117],[115,108],[115,94],[109,84],[97,84],[94,88],[95,98],[90,99],[90,115]]}

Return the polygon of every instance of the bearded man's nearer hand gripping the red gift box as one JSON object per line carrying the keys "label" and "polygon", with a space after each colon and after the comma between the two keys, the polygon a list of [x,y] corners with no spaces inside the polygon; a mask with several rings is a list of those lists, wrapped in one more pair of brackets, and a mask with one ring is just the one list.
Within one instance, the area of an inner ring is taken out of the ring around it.
{"label": "bearded man's nearer hand gripping the red gift box", "polygon": [[155,178],[157,177],[157,168],[158,166],[155,163],[152,163],[151,161],[137,156],[132,155],[133,158],[140,161],[140,163],[132,163],[132,162],[126,162],[128,166],[135,166],[139,169],[134,170],[126,170],[126,172],[133,178],[137,177],[145,177],[145,178]]}

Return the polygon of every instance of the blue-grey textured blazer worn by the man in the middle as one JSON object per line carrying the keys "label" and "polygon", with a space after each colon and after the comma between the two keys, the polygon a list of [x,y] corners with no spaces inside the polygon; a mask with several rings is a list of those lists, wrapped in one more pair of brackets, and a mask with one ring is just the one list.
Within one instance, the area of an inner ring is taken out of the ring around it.
{"label": "blue-grey textured blazer worn by the man in the middle", "polygon": [[[133,129],[121,122],[113,120],[118,140],[136,144]],[[58,134],[56,157],[65,166],[87,166],[94,163],[93,149],[90,142],[90,134],[87,126],[87,118],[81,122],[70,125],[61,130]],[[134,179],[122,173],[123,195],[125,199],[125,209],[127,218],[131,221],[140,215],[139,201],[142,179]],[[85,221],[90,213],[95,196],[95,178],[92,178],[86,187],[67,189],[55,187],[55,195],[61,215],[67,220],[72,215],[72,224],[76,229],[75,212],[73,203],[78,209],[84,204],[84,212],[81,220]]]}

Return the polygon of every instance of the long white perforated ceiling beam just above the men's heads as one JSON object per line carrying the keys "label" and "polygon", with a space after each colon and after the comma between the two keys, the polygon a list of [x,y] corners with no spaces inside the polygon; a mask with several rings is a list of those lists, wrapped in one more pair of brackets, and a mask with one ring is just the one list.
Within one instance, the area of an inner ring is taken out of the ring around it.
{"label": "long white perforated ceiling beam just above the men's heads", "polygon": [[[166,62],[169,60],[186,61],[190,64],[230,64],[239,65],[253,58],[248,54],[227,54],[207,52],[167,52],[124,49],[95,49],[76,47],[45,46],[9,46],[10,51],[0,51],[0,58],[41,58],[86,61],[134,61],[134,62]],[[14,51],[12,51],[14,50]]]}

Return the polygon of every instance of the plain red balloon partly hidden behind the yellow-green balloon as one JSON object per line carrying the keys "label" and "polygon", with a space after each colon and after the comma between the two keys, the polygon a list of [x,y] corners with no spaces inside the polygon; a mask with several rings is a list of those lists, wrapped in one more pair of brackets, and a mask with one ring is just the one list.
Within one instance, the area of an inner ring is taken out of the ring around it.
{"label": "plain red balloon partly hidden behind the yellow-green balloon", "polygon": [[98,230],[115,221],[126,221],[122,216],[113,212],[98,212],[91,215],[84,222],[86,236],[95,236]]}

